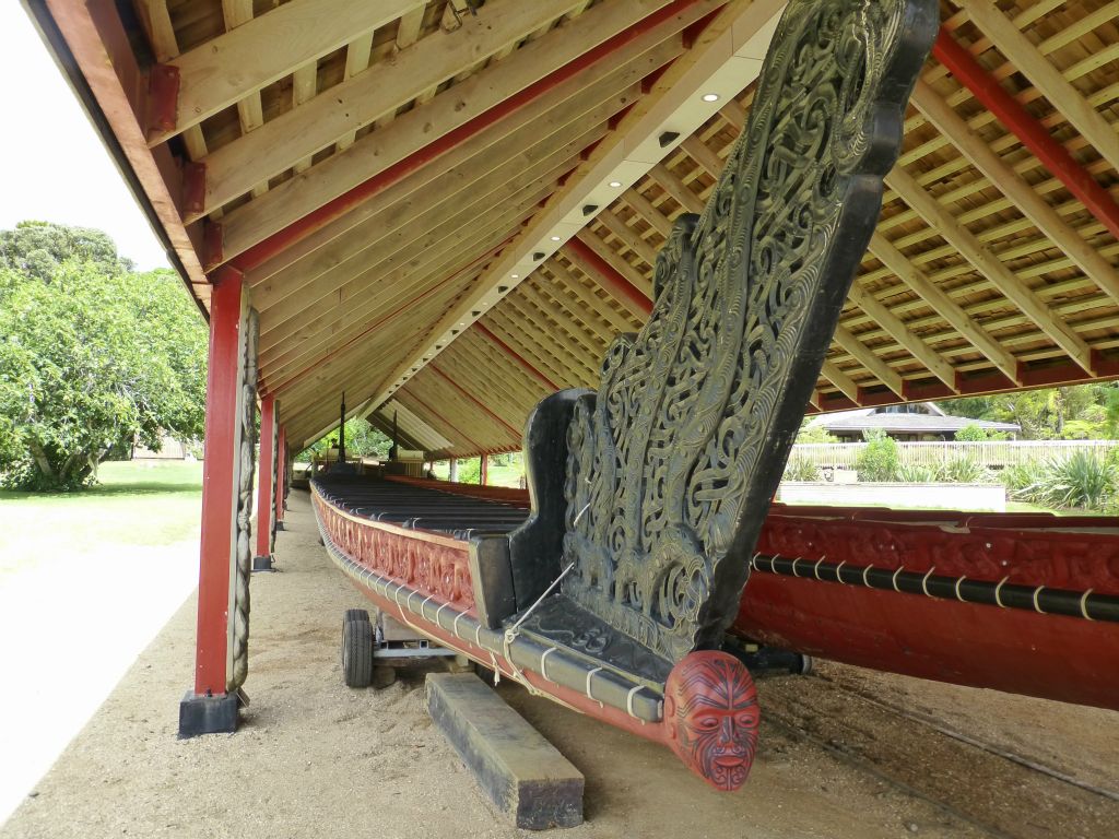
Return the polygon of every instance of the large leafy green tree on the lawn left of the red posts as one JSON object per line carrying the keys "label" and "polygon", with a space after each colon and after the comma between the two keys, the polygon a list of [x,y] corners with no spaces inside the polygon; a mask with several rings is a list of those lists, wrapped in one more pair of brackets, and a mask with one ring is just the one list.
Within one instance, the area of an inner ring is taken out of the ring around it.
{"label": "large leafy green tree on the lawn left of the red posts", "polygon": [[0,482],[72,489],[133,440],[158,447],[164,433],[200,437],[206,327],[176,275],[131,272],[104,234],[34,227],[31,237],[0,234],[9,245],[0,267]]}

